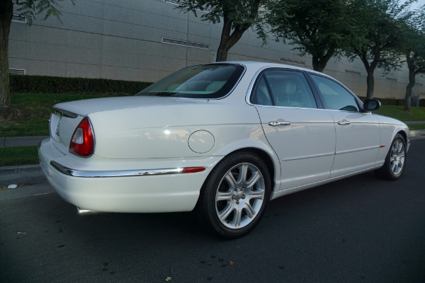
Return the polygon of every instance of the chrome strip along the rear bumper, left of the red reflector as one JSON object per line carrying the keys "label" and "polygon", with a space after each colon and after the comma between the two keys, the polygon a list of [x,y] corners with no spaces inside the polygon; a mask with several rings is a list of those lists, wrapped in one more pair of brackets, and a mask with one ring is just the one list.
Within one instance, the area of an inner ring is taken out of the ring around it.
{"label": "chrome strip along the rear bumper, left of the red reflector", "polygon": [[60,173],[72,177],[82,178],[113,178],[113,177],[134,177],[146,175],[169,175],[183,173],[183,168],[164,169],[140,169],[140,170],[120,170],[120,171],[83,171],[62,166],[56,161],[50,161],[50,165]]}

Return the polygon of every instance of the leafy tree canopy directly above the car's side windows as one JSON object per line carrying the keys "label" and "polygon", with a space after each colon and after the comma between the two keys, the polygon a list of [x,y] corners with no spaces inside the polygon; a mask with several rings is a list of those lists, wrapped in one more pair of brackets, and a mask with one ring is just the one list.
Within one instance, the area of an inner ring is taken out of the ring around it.
{"label": "leafy tree canopy directly above the car's side windows", "polygon": [[363,30],[350,0],[283,0],[269,6],[268,24],[278,40],[290,40],[302,55],[311,54],[313,69],[323,71],[331,57],[359,46]]}

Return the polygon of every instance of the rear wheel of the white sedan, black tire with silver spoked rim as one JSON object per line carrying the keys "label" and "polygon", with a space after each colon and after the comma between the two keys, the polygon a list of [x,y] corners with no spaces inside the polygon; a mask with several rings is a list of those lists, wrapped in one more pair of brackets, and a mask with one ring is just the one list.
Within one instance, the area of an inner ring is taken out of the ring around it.
{"label": "rear wheel of the white sedan, black tire with silver spoked rim", "polygon": [[270,199],[266,163],[242,151],[225,157],[200,191],[196,213],[201,224],[222,238],[239,238],[254,229]]}

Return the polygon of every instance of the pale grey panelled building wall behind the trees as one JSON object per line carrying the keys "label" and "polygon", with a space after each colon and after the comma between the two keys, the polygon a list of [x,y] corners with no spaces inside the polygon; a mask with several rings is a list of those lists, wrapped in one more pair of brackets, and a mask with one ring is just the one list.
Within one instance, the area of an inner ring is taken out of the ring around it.
{"label": "pale grey panelled building wall behind the trees", "polygon": [[[164,0],[64,1],[62,23],[55,17],[32,26],[13,22],[9,36],[9,68],[26,74],[157,81],[173,71],[214,61],[222,25],[201,21]],[[199,11],[198,16],[203,12]],[[208,49],[162,43],[162,38],[209,45]],[[312,69],[312,58],[301,57],[293,46],[275,42],[261,46],[248,30],[229,51],[229,60],[279,62],[295,59]],[[332,58],[324,73],[334,76],[358,96],[365,96],[366,71],[360,59]],[[404,98],[407,67],[386,76],[375,71],[377,98]],[[416,76],[414,93],[425,98],[425,79]]]}

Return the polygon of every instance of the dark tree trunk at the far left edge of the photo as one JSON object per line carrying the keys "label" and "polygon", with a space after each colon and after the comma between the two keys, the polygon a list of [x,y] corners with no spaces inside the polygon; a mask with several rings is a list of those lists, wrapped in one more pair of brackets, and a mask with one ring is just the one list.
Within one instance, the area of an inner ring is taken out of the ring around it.
{"label": "dark tree trunk at the far left edge of the photo", "polygon": [[11,106],[8,74],[8,35],[13,15],[12,0],[0,0],[0,110]]}

